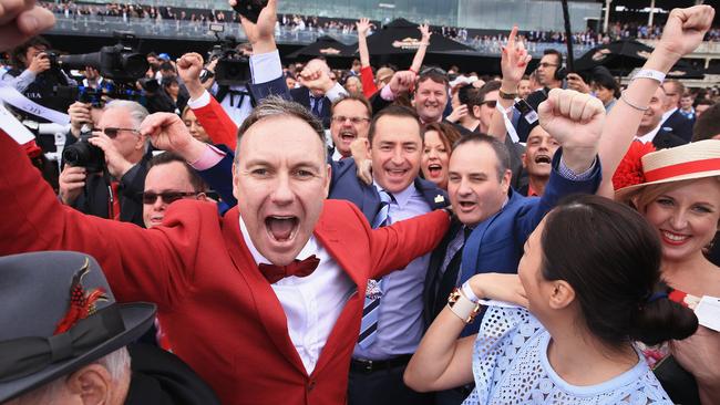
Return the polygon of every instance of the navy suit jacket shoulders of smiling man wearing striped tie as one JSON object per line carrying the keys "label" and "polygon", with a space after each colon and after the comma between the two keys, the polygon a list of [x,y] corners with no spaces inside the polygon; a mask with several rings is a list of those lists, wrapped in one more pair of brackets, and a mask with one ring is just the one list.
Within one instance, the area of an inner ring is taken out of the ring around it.
{"label": "navy suit jacket shoulders of smiling man wearing striped tie", "polygon": [[[367,185],[356,174],[356,164],[352,159],[332,162],[332,178],[330,180],[330,195],[328,198],[344,199],[353,202],[372,224],[380,210],[380,195],[373,185]],[[430,209],[446,207],[450,202],[448,194],[438,188],[433,183],[415,178],[415,187],[423,195]]]}

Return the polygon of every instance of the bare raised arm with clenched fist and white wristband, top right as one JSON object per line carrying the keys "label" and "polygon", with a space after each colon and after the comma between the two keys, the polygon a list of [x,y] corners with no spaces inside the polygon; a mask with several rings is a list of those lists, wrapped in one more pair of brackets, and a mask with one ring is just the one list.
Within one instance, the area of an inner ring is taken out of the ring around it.
{"label": "bare raised arm with clenched fist and white wristband, top right", "polygon": [[[710,6],[672,10],[660,42],[642,69],[667,74],[682,56],[691,53],[702,42],[713,18],[714,9]],[[598,194],[613,198],[613,174],[635,139],[642,114],[659,85],[657,80],[635,79],[610,110],[600,143],[603,185]]]}

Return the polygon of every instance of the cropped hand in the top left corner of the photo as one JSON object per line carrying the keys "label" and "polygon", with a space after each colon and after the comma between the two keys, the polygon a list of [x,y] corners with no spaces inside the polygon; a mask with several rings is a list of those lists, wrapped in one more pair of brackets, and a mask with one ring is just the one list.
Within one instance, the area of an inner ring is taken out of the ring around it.
{"label": "cropped hand in the top left corner of the photo", "polygon": [[55,24],[50,10],[34,0],[0,0],[0,52],[20,45]]}

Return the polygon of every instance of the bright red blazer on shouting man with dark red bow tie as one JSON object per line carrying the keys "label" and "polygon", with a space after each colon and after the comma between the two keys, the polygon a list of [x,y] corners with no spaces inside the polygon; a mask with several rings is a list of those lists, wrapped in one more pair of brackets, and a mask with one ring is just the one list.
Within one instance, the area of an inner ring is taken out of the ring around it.
{"label": "bright red blazer on shouting man with dark red bow tie", "polygon": [[372,230],[350,202],[326,200],[315,236],[357,284],[312,374],[243,240],[237,208],[172,205],[162,227],[85,216],[62,206],[19,146],[0,132],[0,255],[76,250],[102,266],[119,301],[152,301],[169,343],[224,404],[343,404],[368,278],[402,269],[448,229],[443,211]]}

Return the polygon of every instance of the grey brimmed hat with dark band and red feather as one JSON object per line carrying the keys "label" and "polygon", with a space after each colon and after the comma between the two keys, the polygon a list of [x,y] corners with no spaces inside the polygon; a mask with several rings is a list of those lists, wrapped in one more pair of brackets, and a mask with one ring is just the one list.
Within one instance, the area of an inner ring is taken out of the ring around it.
{"label": "grey brimmed hat with dark band and red feather", "polygon": [[115,302],[92,257],[68,251],[0,258],[0,403],[137,340],[155,305]]}

